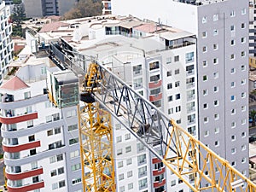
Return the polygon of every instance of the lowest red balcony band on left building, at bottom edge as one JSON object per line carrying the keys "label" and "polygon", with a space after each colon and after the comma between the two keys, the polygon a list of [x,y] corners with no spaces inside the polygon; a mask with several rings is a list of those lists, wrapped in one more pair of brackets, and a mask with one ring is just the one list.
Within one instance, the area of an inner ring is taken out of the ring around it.
{"label": "lowest red balcony band on left building, at bottom edge", "polygon": [[21,186],[9,186],[7,185],[9,192],[26,192],[35,189],[44,188],[44,180],[39,181],[38,183],[29,183]]}

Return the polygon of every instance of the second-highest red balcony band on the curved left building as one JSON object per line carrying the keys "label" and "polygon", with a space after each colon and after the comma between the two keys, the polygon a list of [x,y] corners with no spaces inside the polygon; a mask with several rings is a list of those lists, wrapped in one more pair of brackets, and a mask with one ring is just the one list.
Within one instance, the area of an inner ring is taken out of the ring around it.
{"label": "second-highest red balcony band on the curved left building", "polygon": [[40,141],[25,143],[25,144],[17,144],[17,145],[6,145],[3,143],[3,151],[9,153],[17,153],[23,150],[38,148],[41,146]]}

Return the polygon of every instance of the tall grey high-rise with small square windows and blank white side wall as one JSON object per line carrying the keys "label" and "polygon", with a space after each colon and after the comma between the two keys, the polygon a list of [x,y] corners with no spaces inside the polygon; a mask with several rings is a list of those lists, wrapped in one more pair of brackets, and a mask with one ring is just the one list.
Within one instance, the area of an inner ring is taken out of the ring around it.
{"label": "tall grey high-rise with small square windows and blank white side wall", "polygon": [[248,1],[113,0],[112,5],[114,15],[195,33],[199,139],[248,175]]}

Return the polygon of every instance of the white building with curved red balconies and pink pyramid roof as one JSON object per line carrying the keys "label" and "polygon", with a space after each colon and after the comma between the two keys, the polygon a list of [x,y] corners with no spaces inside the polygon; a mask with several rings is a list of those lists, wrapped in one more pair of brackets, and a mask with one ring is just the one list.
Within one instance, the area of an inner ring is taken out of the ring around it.
{"label": "white building with curved red balconies and pink pyramid roof", "polygon": [[[26,47],[15,75],[0,86],[1,134],[9,192],[81,192],[77,108],[55,108],[46,91],[46,71],[57,73],[47,55]],[[78,81],[73,73],[66,79]],[[67,174],[68,173],[68,174]]]}

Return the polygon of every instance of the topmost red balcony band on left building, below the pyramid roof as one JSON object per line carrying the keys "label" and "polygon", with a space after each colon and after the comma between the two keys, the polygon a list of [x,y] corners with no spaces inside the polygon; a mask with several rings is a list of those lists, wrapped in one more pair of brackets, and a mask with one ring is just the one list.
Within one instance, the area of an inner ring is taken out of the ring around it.
{"label": "topmost red balcony band on left building, below the pyramid roof", "polygon": [[38,119],[38,112],[24,113],[12,117],[0,116],[0,123],[3,124],[16,124],[27,120]]}

